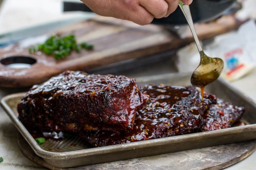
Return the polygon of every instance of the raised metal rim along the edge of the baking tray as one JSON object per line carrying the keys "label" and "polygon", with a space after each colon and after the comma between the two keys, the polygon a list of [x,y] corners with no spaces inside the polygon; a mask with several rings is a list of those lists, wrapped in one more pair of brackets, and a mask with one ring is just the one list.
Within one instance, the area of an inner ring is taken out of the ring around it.
{"label": "raised metal rim along the edge of the baking tray", "polygon": [[[143,80],[146,81],[152,80],[154,78],[161,77],[176,77],[176,76],[188,76],[188,74],[191,75],[191,73],[167,73],[167,74],[158,74],[154,76],[146,76],[146,77],[139,77],[135,78],[136,81]],[[229,82],[226,80],[219,78],[217,81],[220,83],[225,84],[226,86],[229,86],[231,90],[235,90],[236,93],[242,97],[246,102],[249,102],[256,107],[256,102],[248,97],[246,94],[232,86]],[[135,150],[140,148],[147,148],[152,146],[160,146],[163,143],[166,144],[166,142],[170,143],[177,143],[180,142],[179,140],[190,140],[195,137],[197,138],[204,138],[205,135],[211,134],[212,136],[222,136],[226,135],[227,132],[229,134],[235,134],[239,131],[252,131],[256,130],[256,123],[255,124],[249,124],[246,126],[240,126],[240,127],[231,127],[226,129],[220,129],[220,130],[213,130],[213,131],[207,131],[207,132],[198,132],[198,133],[191,133],[191,134],[184,134],[180,136],[173,136],[173,137],[166,137],[166,138],[159,138],[159,139],[151,139],[151,140],[145,140],[145,141],[138,141],[138,142],[132,142],[132,143],[125,143],[125,144],[116,144],[112,146],[105,146],[105,147],[98,147],[98,148],[89,148],[89,149],[82,149],[82,150],[76,150],[76,151],[67,151],[67,152],[50,152],[42,149],[39,144],[34,140],[34,138],[31,136],[31,134],[27,131],[27,129],[24,127],[24,125],[19,121],[19,119],[16,117],[15,113],[12,111],[12,109],[7,104],[7,100],[17,97],[23,97],[25,96],[26,92],[20,92],[20,93],[13,93],[9,94],[1,99],[1,106],[6,111],[12,122],[15,124],[16,128],[19,130],[19,132],[22,134],[22,136],[25,138],[25,140],[28,142],[30,147],[34,150],[34,152],[42,158],[47,159],[53,159],[53,160],[65,160],[65,159],[71,159],[71,158],[78,158],[78,157],[84,157],[84,156],[91,156],[91,155],[98,155],[98,154],[105,154],[105,153],[112,153],[112,152],[119,152],[119,151],[126,151],[126,150]]]}

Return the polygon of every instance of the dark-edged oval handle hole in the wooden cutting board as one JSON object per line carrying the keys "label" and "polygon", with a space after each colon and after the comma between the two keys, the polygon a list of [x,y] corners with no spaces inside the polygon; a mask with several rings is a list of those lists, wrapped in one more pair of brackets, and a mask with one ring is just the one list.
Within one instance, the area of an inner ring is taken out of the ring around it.
{"label": "dark-edged oval handle hole in the wooden cutting board", "polygon": [[36,63],[36,59],[27,56],[11,56],[1,59],[1,64],[13,69],[29,68]]}

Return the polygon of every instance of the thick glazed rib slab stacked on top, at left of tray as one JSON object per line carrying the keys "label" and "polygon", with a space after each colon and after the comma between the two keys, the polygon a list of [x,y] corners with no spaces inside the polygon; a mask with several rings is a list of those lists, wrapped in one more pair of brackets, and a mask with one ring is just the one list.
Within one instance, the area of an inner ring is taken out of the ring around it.
{"label": "thick glazed rib slab stacked on top, at left of tray", "polygon": [[134,79],[65,71],[31,88],[17,109],[29,131],[120,131],[133,128],[146,99]]}

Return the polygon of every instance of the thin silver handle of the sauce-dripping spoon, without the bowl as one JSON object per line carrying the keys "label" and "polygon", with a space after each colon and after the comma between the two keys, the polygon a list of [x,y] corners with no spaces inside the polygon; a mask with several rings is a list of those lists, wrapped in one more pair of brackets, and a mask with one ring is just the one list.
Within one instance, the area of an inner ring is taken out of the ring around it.
{"label": "thin silver handle of the sauce-dripping spoon, without the bowl", "polygon": [[202,49],[202,46],[199,42],[199,39],[197,37],[197,34],[195,32],[195,27],[194,27],[194,23],[193,23],[193,20],[192,20],[192,16],[191,16],[191,13],[190,13],[190,9],[189,9],[189,6],[188,5],[184,5],[181,1],[179,3],[179,7],[181,8],[181,11],[182,13],[184,14],[186,20],[188,21],[188,24],[189,24],[189,28],[193,34],[193,37],[195,39],[195,43],[196,43],[196,46],[198,48],[198,51],[201,55],[201,53],[203,53],[203,49]]}

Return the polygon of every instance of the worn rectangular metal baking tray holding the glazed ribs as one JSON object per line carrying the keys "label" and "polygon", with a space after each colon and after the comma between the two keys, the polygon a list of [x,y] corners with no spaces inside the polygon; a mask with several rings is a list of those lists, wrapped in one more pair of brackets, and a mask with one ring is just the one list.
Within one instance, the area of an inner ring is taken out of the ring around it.
{"label": "worn rectangular metal baking tray holding the glazed ribs", "polygon": [[[141,77],[136,80],[139,84],[162,83],[173,86],[186,86],[190,84],[190,76],[191,73],[162,74]],[[17,118],[16,106],[25,93],[8,95],[2,98],[1,105],[35,153],[54,167],[83,166],[256,139],[255,101],[232,87],[230,83],[223,79],[218,79],[210,84],[210,86],[207,86],[206,91],[215,94],[219,98],[226,99],[235,105],[244,106],[246,112],[243,120],[249,124],[240,127],[99,148],[91,148],[82,139],[77,137],[70,137],[61,141],[47,140],[46,143],[38,145]]]}

